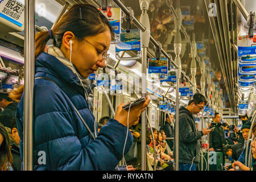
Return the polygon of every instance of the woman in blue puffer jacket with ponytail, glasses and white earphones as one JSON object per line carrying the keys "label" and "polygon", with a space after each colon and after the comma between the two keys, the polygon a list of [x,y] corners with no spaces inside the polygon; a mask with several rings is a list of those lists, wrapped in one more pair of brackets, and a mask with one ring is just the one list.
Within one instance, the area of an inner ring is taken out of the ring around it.
{"label": "woman in blue puffer jacket with ponytail, glasses and white earphones", "polygon": [[[39,32],[35,39],[35,170],[114,170],[123,157],[128,111],[122,109],[123,103],[119,105],[114,119],[97,133],[88,108],[91,88],[85,79],[105,66],[111,40],[108,20],[96,7],[74,5],[52,30]],[[49,39],[53,39],[53,46],[46,53]],[[138,121],[149,102],[147,96],[144,103],[130,109],[129,126]],[[23,104],[22,95],[16,111],[21,156]],[[129,131],[125,154],[132,143]]]}

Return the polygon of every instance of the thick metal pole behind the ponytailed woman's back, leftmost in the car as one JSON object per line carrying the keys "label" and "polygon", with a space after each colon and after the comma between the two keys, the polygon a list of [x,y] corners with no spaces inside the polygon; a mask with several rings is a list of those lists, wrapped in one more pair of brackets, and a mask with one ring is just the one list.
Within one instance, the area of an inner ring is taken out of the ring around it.
{"label": "thick metal pole behind the ponytailed woman's back, leftmost in the car", "polygon": [[35,75],[35,1],[25,1],[25,84],[24,84],[24,129],[23,170],[32,171],[34,139],[34,75]]}

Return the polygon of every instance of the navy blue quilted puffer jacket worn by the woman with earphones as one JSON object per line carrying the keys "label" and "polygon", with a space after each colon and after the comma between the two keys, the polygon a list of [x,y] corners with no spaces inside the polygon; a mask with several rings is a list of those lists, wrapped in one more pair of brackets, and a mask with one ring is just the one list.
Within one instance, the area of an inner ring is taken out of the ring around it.
{"label": "navy blue quilted puffer jacket worn by the woman with earphones", "polygon": [[[35,170],[114,170],[122,159],[127,127],[110,119],[93,140],[71,104],[94,134],[94,116],[77,76],[45,52],[36,59],[35,72],[35,77],[51,78],[60,86],[48,80],[35,80]],[[20,156],[23,156],[23,102],[22,96],[16,110]],[[129,131],[125,153],[132,143]],[[43,155],[39,151],[45,152],[46,164],[42,164]]]}

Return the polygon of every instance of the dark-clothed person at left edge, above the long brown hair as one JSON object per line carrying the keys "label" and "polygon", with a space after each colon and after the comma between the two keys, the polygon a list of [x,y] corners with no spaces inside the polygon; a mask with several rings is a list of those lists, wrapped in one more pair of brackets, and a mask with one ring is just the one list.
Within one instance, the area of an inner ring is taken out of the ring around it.
{"label": "dark-clothed person at left edge, above the long brown hair", "polygon": [[11,128],[15,118],[15,111],[18,103],[11,100],[8,93],[0,93],[0,107],[3,107],[3,111],[0,113],[0,123],[5,127]]}

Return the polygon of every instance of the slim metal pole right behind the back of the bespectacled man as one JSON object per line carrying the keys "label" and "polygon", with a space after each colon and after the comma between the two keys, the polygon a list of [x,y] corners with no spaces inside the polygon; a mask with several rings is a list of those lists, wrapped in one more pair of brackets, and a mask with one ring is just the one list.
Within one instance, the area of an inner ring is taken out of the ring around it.
{"label": "slim metal pole right behind the back of the bespectacled man", "polygon": [[176,118],[175,118],[175,164],[176,171],[179,171],[179,84],[180,78],[176,82]]}

